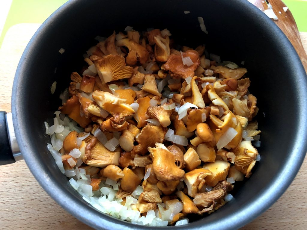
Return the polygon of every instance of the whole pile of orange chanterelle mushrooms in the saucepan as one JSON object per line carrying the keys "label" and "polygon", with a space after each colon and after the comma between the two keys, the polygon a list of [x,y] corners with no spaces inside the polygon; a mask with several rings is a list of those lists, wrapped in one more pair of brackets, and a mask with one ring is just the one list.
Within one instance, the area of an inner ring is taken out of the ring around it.
{"label": "whole pile of orange chanterelle mushrooms in the saucepan", "polygon": [[[107,178],[120,182],[116,197],[125,204],[140,185],[135,208],[144,216],[158,209],[174,223],[226,203],[232,184],[260,159],[251,142],[260,131],[247,70],[170,36],[130,30],[100,41],[87,51],[87,67],[72,73],[59,110],[84,128],[64,138],[65,169],[79,149],[93,191]],[[178,213],[167,213],[178,204]]]}

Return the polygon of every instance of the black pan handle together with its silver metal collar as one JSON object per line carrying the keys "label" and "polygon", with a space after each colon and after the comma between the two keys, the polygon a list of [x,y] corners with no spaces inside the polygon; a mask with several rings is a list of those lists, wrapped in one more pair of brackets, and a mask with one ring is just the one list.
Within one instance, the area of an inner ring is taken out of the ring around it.
{"label": "black pan handle together with its silver metal collar", "polygon": [[13,127],[12,113],[0,111],[0,165],[22,160]]}

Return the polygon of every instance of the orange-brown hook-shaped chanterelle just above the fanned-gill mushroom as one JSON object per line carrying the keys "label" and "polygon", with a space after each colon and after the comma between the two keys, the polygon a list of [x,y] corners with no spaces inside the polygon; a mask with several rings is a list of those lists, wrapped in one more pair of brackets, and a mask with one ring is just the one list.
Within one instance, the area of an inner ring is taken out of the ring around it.
{"label": "orange-brown hook-shaped chanterelle just above the fanned-gill mushroom", "polygon": [[129,38],[117,41],[116,45],[119,47],[125,46],[129,49],[128,56],[126,57],[126,63],[128,65],[135,65],[137,61],[144,64],[149,59],[149,52],[146,48]]}

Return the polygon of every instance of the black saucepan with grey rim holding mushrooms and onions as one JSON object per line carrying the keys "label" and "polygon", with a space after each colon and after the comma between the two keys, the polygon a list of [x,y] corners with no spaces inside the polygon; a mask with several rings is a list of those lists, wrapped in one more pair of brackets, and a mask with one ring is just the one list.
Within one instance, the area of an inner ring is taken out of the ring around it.
{"label": "black saucepan with grey rim holding mushrooms and onions", "polygon": [[[184,11],[191,13],[185,14]],[[203,17],[208,35],[200,29]],[[233,229],[247,224],[274,203],[297,174],[307,150],[306,74],[282,31],[246,0],[69,1],[37,30],[18,65],[12,94],[12,117],[1,113],[1,158],[18,158],[17,142],[31,172],[63,208],[96,229],[148,229],[117,220],[92,208],[70,186],[46,148],[44,121],[52,121],[72,71],[94,38],[133,26],[169,29],[179,44],[206,44],[223,60],[245,62],[250,92],[258,98],[261,160],[250,179],[232,192],[234,199],[215,213],[177,229]],[[65,52],[58,51],[64,48]],[[56,69],[56,71],[55,71]],[[50,93],[52,82],[55,93]],[[165,228],[166,229],[166,228]]]}

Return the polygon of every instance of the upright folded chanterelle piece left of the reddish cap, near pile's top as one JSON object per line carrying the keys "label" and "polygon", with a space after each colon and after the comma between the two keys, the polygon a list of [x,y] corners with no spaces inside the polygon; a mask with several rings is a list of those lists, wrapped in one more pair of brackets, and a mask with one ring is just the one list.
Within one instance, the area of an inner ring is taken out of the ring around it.
{"label": "upright folded chanterelle piece left of the reddish cap, near pile's top", "polygon": [[171,54],[169,48],[169,36],[162,38],[161,36],[155,36],[154,38],[155,47],[154,54],[157,61],[166,62],[168,56]]}

